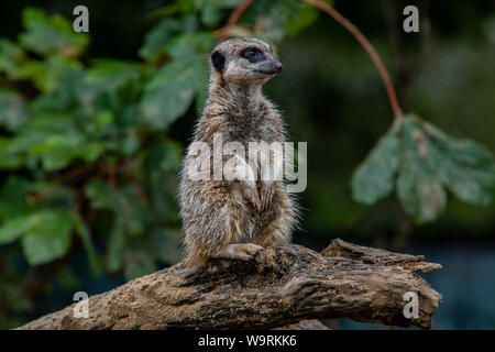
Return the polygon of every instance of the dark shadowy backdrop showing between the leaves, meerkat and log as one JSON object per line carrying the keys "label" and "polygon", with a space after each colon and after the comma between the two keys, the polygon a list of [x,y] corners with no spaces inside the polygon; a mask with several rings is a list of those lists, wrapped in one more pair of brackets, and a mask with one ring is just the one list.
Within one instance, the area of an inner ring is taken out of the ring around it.
{"label": "dark shadowy backdrop showing between the leaves, meerkat and log", "polygon": [[[15,38],[22,30],[21,10],[28,4],[70,19],[74,6],[82,3],[90,11],[91,35],[82,59],[132,61],[140,59],[136,53],[154,24],[144,20],[146,14],[165,4],[3,1],[0,36]],[[402,31],[402,9],[409,2],[336,1],[336,8],[375,45],[405,111],[419,114],[453,136],[473,139],[495,151],[494,1],[415,3],[420,9],[419,33]],[[277,54],[284,72],[266,86],[266,96],[283,111],[290,139],[308,142],[308,187],[299,196],[302,222],[294,241],[321,250],[331,239],[341,238],[425,254],[428,261],[443,265],[442,271],[426,276],[443,295],[433,317],[435,328],[494,329],[495,206],[471,206],[449,195],[447,210],[437,221],[416,226],[395,195],[372,207],[354,202],[352,172],[393,119],[380,76],[355,40],[323,14],[308,29],[284,40]],[[169,135],[183,147],[196,119],[191,106],[169,128]],[[16,321],[63,308],[72,302],[75,290],[96,294],[124,283],[119,273],[92,276],[80,248],[66,265],[79,278],[76,287],[54,284],[52,290],[35,297],[34,309],[18,315]],[[382,328],[348,320],[331,323]]]}

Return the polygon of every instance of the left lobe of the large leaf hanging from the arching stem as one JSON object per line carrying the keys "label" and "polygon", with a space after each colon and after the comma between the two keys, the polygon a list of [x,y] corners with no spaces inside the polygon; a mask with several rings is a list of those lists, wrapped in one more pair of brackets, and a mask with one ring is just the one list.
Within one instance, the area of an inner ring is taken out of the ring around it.
{"label": "left lobe of the large leaf hanging from the arching stem", "polygon": [[372,205],[391,194],[398,168],[398,150],[399,139],[396,131],[391,130],[354,172],[352,177],[354,200]]}

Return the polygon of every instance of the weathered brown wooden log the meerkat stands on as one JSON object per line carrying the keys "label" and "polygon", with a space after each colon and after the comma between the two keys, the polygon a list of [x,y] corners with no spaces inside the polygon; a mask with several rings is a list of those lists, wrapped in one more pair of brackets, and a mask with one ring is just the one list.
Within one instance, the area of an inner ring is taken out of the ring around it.
{"label": "weathered brown wooden log the meerkat stands on", "polygon": [[[300,245],[267,249],[251,262],[215,260],[198,270],[178,263],[19,329],[270,329],[306,319],[349,318],[429,329],[441,302],[417,272],[440,264],[333,240],[321,253]],[[404,294],[419,297],[419,317],[404,316]]]}

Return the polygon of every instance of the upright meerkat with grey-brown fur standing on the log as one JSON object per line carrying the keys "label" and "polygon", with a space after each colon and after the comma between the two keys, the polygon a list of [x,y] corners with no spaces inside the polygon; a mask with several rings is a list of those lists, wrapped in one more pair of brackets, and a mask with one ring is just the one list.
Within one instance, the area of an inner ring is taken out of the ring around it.
{"label": "upright meerkat with grey-brown fur standing on the log", "polygon": [[[250,142],[284,143],[280,114],[262,94],[262,86],[283,67],[272,46],[257,38],[227,40],[213,48],[209,63],[209,96],[194,141],[211,147],[220,133],[224,143],[240,142],[246,151]],[[283,180],[191,179],[191,152],[189,146],[179,185],[186,265],[213,257],[249,261],[264,248],[290,242],[297,213]],[[258,167],[244,155],[239,161],[249,172]]]}

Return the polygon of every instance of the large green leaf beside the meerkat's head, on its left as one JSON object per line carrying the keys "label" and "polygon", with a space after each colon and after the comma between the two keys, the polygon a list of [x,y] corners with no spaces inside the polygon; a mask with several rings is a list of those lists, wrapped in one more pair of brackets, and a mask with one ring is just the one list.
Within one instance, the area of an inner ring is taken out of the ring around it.
{"label": "large green leaf beside the meerkat's head, on its left", "polygon": [[162,130],[184,114],[205,79],[206,61],[191,57],[173,62],[156,73],[141,101],[143,121]]}

